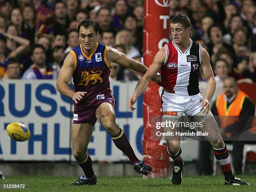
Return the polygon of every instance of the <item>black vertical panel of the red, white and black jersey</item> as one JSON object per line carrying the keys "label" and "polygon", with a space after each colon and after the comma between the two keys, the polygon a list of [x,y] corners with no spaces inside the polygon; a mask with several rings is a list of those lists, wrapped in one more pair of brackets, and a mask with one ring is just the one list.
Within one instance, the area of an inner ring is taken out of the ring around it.
{"label": "black vertical panel of the red, white and black jersey", "polygon": [[192,46],[190,48],[190,55],[196,56],[197,61],[191,61],[191,71],[189,75],[189,85],[187,87],[187,92],[189,95],[196,95],[200,93],[199,91],[199,70],[201,66],[200,62],[200,53],[199,53],[200,45],[193,41]]}

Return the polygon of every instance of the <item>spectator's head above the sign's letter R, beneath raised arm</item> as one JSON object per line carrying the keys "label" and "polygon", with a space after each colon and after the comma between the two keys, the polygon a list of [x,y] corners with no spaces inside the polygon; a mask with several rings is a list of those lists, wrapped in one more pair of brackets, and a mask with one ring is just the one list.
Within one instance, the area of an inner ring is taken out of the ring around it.
{"label": "spectator's head above the sign's letter R, beneath raised arm", "polygon": [[20,63],[15,58],[10,58],[6,63],[6,73],[3,78],[20,79]]}

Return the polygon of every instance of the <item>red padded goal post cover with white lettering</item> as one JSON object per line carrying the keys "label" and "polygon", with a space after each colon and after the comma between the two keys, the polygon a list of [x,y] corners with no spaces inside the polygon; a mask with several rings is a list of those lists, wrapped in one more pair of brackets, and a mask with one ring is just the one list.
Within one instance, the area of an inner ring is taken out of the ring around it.
{"label": "red padded goal post cover with white lettering", "polygon": [[[169,13],[170,0],[144,0],[144,31],[143,31],[143,61],[149,67],[159,48],[169,42]],[[153,169],[148,177],[169,176],[169,156],[166,153],[166,144],[161,141],[152,141],[152,117],[160,117],[161,97],[159,86],[152,82],[143,95],[143,154],[146,164]],[[153,131],[154,132],[154,131]]]}

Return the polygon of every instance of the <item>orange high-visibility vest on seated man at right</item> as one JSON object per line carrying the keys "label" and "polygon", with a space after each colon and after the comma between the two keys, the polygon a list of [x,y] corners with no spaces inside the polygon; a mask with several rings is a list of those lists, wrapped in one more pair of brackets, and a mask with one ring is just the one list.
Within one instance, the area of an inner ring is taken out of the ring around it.
{"label": "orange high-visibility vest on seated man at right", "polygon": [[[225,93],[218,96],[216,100],[216,108],[217,108],[218,115],[220,117],[221,127],[225,128],[228,125],[238,121],[238,116],[242,111],[243,102],[246,97],[249,97],[249,96],[243,91],[238,90],[236,98],[227,107],[227,101],[225,100]],[[255,118],[253,120],[252,129],[249,129],[248,131],[256,133]]]}

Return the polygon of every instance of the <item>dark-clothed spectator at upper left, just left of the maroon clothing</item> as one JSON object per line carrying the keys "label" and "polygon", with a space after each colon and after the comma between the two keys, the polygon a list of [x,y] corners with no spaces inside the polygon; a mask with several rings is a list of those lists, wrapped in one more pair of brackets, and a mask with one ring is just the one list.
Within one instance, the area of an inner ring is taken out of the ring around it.
{"label": "dark-clothed spectator at upper left, just left of the maroon clothing", "polygon": [[23,16],[23,32],[25,37],[30,41],[31,45],[34,44],[36,25],[35,25],[35,10],[33,5],[25,4],[22,9]]}

